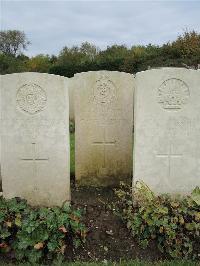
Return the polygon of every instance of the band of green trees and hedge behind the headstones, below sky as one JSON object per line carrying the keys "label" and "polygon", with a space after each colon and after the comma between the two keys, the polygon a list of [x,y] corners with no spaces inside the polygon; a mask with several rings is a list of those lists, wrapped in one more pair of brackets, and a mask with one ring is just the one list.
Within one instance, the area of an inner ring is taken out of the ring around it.
{"label": "band of green trees and hedge behind the headstones, below sky", "polygon": [[[1,42],[5,42],[0,39]],[[30,42],[24,38],[25,49]],[[3,47],[2,44],[2,47]],[[23,43],[22,43],[23,46]],[[83,42],[71,48],[65,46],[58,56],[39,54],[29,58],[22,52],[1,49],[0,74],[41,72],[72,77],[85,71],[110,70],[136,73],[155,67],[191,67],[200,64],[200,33],[185,31],[173,42],[163,45],[112,45],[100,50]]]}

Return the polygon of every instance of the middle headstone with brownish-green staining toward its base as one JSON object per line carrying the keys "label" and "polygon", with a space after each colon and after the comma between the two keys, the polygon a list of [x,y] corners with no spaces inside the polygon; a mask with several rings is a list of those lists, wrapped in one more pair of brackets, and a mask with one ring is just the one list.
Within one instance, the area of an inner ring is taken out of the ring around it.
{"label": "middle headstone with brownish-green staining toward its base", "polygon": [[131,179],[134,76],[97,71],[75,78],[76,181],[115,186]]}

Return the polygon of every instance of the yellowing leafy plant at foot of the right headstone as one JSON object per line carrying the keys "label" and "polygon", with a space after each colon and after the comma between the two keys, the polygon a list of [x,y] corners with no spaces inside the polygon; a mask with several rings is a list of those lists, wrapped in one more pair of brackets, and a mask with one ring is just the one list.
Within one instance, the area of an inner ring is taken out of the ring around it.
{"label": "yellowing leafy plant at foot of the right headstone", "polygon": [[145,248],[151,240],[172,258],[200,256],[200,189],[190,196],[159,195],[142,182],[134,193],[125,184],[115,190],[118,201],[115,210]]}

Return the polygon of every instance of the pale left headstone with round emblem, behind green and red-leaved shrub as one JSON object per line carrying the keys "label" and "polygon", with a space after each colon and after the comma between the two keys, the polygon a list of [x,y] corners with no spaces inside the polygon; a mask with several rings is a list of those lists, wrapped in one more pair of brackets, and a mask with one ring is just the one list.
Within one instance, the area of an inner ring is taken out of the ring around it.
{"label": "pale left headstone with round emblem, behind green and red-leaved shrub", "polygon": [[67,78],[1,76],[1,174],[5,198],[32,205],[70,200]]}

